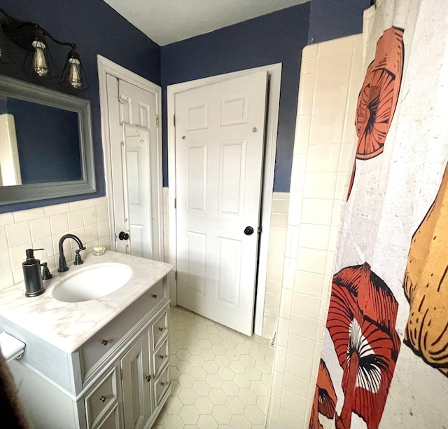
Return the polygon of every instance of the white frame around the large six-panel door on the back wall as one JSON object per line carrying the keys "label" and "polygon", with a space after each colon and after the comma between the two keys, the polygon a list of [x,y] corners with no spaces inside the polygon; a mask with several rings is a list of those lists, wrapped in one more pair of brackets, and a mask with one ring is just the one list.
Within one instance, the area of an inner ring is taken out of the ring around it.
{"label": "white frame around the large six-panel door on the back wall", "polygon": [[[234,71],[232,73],[210,76],[195,81],[176,83],[167,86],[167,133],[168,133],[168,214],[169,214],[169,262],[177,270],[177,243],[176,243],[176,209],[174,198],[176,198],[176,128],[174,127],[174,111],[176,94],[193,88],[211,85],[247,76],[256,71],[267,71],[269,76],[267,121],[266,121],[266,147],[265,161],[263,166],[262,196],[261,196],[261,227],[260,250],[258,252],[258,280],[255,285],[255,323],[253,332],[262,334],[263,315],[265,308],[266,277],[267,277],[267,255],[269,250],[269,230],[271,226],[272,193],[274,188],[275,154],[277,143],[277,128],[279,123],[281,62],[269,64],[253,69]],[[170,297],[172,304],[177,304],[177,282],[174,275],[168,276]]]}

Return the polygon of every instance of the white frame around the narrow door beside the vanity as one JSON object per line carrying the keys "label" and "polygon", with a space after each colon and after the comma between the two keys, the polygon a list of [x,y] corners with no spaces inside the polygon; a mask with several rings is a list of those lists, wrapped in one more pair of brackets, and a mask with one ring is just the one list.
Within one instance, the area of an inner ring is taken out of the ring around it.
{"label": "white frame around the narrow door beside the vanity", "polygon": [[[103,161],[104,161],[104,178],[106,180],[106,197],[109,208],[109,229],[111,237],[111,249],[116,248],[116,222],[115,212],[113,210],[113,182],[112,182],[112,168],[111,168],[111,137],[109,133],[109,108],[107,102],[107,81],[106,74],[122,79],[134,86],[148,91],[155,95],[155,114],[159,118],[159,124],[162,124],[162,88],[155,83],[144,79],[135,74],[133,71],[125,69],[115,62],[108,60],[102,55],[97,55],[98,64],[98,83],[99,83],[99,108],[101,112],[101,132],[102,132],[102,147],[103,147]],[[163,205],[162,205],[162,127],[158,125],[157,128],[157,158],[158,171],[157,177],[157,200],[158,200],[158,224],[159,229],[159,243],[158,252],[163,260]],[[153,210],[154,207],[153,207]]]}

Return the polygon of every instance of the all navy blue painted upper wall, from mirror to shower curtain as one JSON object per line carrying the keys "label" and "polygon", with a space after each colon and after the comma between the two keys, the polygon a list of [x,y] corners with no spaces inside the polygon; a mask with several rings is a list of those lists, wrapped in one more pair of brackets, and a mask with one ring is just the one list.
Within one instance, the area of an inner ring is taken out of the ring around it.
{"label": "all navy blue painted upper wall, from mirror to shower curtain", "polygon": [[[80,96],[87,98],[92,104],[98,191],[88,196],[3,205],[0,206],[0,212],[104,196],[97,54],[162,85],[165,186],[168,184],[167,85],[282,62],[274,190],[289,191],[302,48],[307,43],[361,32],[363,10],[369,6],[370,0],[311,0],[311,3],[293,6],[160,48],[102,0],[76,0],[70,6],[60,0],[40,0],[38,4],[33,0],[2,0],[0,7],[10,15],[38,22],[57,39],[77,44],[90,83],[90,89]],[[54,59],[64,62],[66,49],[58,49],[53,44],[50,48]],[[0,74],[26,80],[20,65],[14,67],[0,64]],[[48,87],[60,90],[57,86]]]}

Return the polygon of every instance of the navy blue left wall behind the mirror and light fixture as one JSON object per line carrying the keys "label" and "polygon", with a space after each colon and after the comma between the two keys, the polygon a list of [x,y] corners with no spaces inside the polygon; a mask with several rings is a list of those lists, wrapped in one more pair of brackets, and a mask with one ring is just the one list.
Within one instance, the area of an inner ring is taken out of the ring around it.
{"label": "navy blue left wall behind the mirror and light fixture", "polygon": [[[97,54],[103,55],[160,85],[160,47],[102,0],[76,0],[69,3],[60,0],[39,0],[38,2],[34,0],[2,0],[0,7],[15,18],[37,22],[56,39],[76,43],[90,83],[90,89],[79,96],[90,100],[92,104],[92,133],[97,177],[97,193],[70,198],[54,198],[36,203],[0,205],[0,212],[104,196]],[[59,48],[51,42],[48,44],[53,60],[58,64],[63,64],[68,49]],[[15,53],[20,53],[20,55],[23,52],[19,48],[15,50]],[[21,64],[17,66],[0,64],[0,74],[28,80],[22,74],[20,67]],[[57,85],[47,84],[45,86],[61,90]],[[48,154],[49,162],[50,155]]]}

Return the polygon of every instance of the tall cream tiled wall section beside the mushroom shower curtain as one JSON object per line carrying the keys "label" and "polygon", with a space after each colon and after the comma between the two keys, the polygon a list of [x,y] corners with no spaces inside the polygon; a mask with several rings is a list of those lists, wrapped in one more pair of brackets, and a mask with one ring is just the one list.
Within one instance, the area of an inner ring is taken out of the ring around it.
{"label": "tall cream tiled wall section beside the mushroom shower curtain", "polygon": [[360,34],[302,53],[269,429],[308,428],[356,147],[353,94],[362,63]]}

